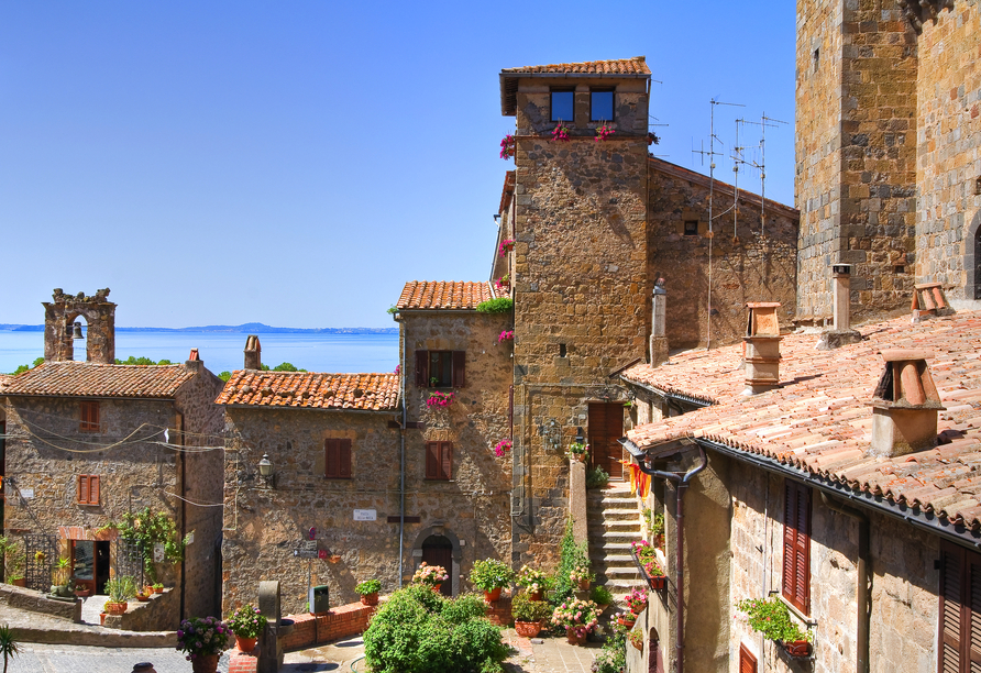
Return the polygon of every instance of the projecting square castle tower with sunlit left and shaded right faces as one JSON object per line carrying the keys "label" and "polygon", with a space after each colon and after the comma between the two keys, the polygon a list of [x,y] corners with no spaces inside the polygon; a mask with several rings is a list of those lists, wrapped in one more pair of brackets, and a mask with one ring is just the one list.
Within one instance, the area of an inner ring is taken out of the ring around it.
{"label": "projecting square castle tower with sunlit left and shaded right faces", "polygon": [[869,318],[910,302],[916,34],[900,0],[797,0],[797,319],[831,317],[831,264]]}

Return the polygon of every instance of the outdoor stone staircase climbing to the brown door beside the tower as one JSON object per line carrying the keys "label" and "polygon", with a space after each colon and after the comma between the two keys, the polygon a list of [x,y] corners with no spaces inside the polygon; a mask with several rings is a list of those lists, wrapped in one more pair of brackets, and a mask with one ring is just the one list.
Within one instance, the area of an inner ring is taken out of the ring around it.
{"label": "outdoor stone staircase climbing to the brown door beside the tower", "polygon": [[641,512],[629,483],[610,482],[607,488],[588,490],[586,497],[589,560],[596,584],[605,585],[621,603],[630,589],[643,585],[630,556],[630,542],[640,539]]}

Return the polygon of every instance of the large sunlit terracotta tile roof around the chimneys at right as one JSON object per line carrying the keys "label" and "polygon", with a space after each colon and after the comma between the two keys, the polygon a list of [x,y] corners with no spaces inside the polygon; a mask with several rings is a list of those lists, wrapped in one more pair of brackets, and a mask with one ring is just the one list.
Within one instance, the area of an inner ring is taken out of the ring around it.
{"label": "large sunlit terracotta tile roof around the chimneys at right", "polygon": [[[859,493],[919,507],[955,525],[981,528],[981,313],[911,324],[908,317],[866,326],[866,340],[817,351],[816,334],[781,342],[782,387],[742,396],[741,344],[691,351],[624,377],[666,395],[712,402],[628,433],[638,448],[680,438],[704,438],[737,452],[759,454]],[[869,402],[881,375],[884,349],[917,349],[928,360],[946,410],[940,444],[897,457],[871,457]]]}

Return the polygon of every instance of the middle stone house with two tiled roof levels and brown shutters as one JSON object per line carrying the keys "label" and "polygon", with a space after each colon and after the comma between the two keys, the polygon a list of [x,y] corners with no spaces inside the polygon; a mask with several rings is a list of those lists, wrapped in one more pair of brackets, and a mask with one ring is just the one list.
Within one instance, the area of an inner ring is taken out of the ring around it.
{"label": "middle stone house with two tiled roof levels and brown shutters", "polygon": [[509,437],[510,319],[476,311],[492,297],[487,283],[406,284],[403,376],[262,372],[249,338],[249,368],[218,399],[225,611],[272,577],[287,611],[305,609],[310,585],[327,585],[331,605],[356,600],[365,580],[388,593],[422,561],[448,569],[442,591],[455,595],[475,559],[506,558],[509,451],[494,449]]}

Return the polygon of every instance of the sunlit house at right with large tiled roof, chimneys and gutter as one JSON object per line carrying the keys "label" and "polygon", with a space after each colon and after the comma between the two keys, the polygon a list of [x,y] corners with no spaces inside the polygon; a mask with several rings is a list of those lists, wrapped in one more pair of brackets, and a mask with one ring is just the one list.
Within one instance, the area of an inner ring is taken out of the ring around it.
{"label": "sunlit house at right with large tiled roof, chimneys and gutter", "polygon": [[[668,575],[629,671],[969,670],[981,317],[861,332],[834,351],[785,334],[780,386],[757,395],[738,345],[622,373],[638,399],[625,444],[657,473],[644,505],[664,514]],[[739,600],[769,595],[809,628],[812,660],[739,618]]]}

